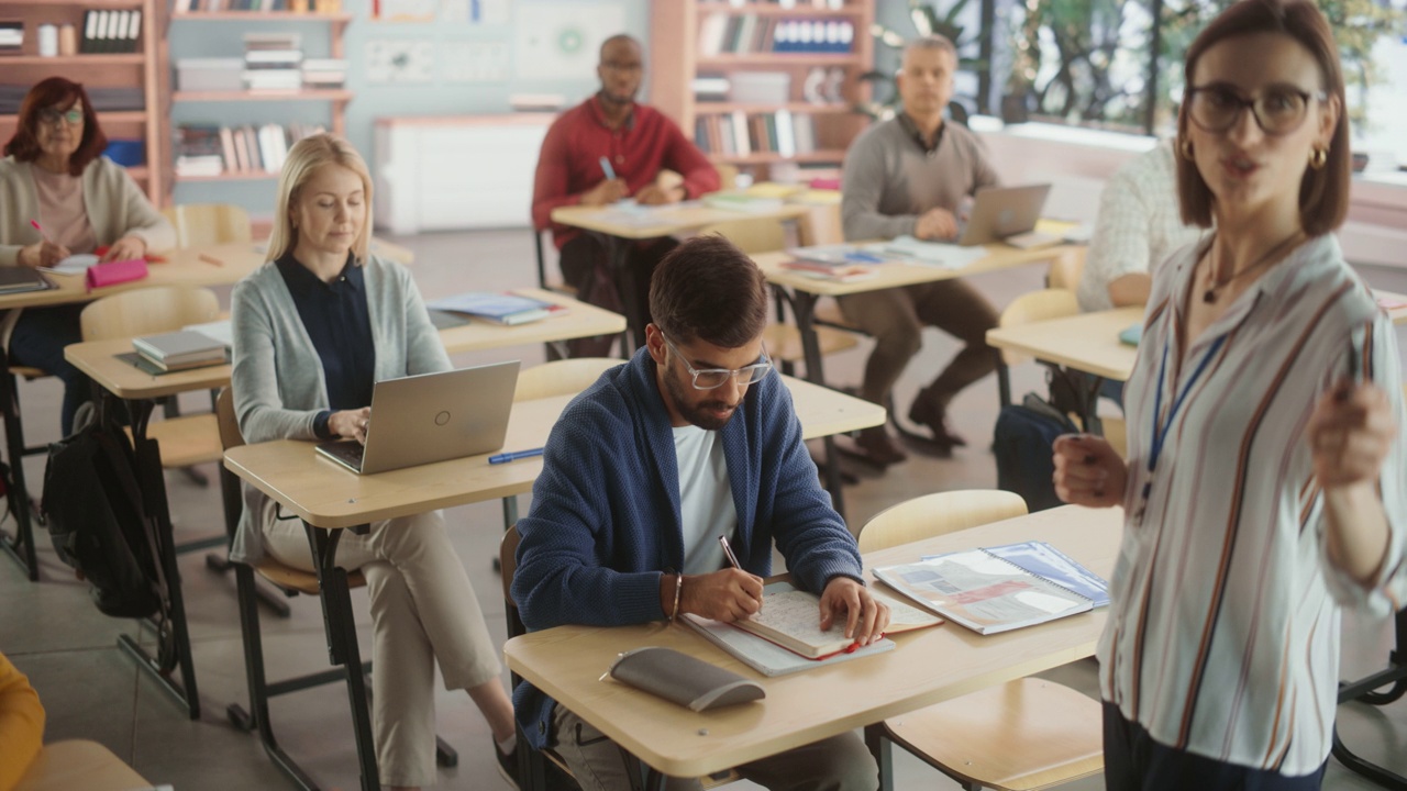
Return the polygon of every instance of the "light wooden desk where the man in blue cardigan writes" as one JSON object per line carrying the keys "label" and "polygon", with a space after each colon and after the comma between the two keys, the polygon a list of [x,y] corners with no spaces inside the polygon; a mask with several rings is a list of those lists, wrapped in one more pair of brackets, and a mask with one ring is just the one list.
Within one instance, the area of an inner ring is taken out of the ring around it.
{"label": "light wooden desk where the man in blue cardigan writes", "polygon": [[[1109,577],[1123,511],[1064,507],[865,556],[867,569],[1040,536]],[[654,770],[702,777],[1093,654],[1107,609],[982,636],[955,624],[895,635],[898,647],[764,677],[687,626],[557,626],[508,640],[508,667]],[[611,680],[620,652],[667,646],[760,683],[760,702],[695,714]]]}

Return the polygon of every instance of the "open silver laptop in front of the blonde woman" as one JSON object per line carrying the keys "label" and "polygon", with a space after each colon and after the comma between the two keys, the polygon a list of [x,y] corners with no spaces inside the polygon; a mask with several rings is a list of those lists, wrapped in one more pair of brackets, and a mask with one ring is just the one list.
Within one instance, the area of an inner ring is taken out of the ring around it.
{"label": "open silver laptop in front of the blonde woman", "polygon": [[488,453],[504,446],[518,360],[377,381],[366,445],[324,442],[318,453],[359,474]]}

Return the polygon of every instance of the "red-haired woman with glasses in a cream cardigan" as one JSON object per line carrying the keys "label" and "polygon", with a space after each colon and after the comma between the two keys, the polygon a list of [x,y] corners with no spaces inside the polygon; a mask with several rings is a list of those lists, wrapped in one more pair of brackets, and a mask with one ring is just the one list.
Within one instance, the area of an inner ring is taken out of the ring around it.
{"label": "red-haired woman with glasses in a cream cardigan", "polygon": [[[0,266],[53,266],[103,246],[103,260],[125,260],[176,245],[170,222],[103,156],[106,146],[83,86],[49,77],[30,90],[0,159]],[[82,310],[28,308],[10,335],[13,362],[63,380],[65,435],[91,390],[63,359],[63,348],[82,339]]]}

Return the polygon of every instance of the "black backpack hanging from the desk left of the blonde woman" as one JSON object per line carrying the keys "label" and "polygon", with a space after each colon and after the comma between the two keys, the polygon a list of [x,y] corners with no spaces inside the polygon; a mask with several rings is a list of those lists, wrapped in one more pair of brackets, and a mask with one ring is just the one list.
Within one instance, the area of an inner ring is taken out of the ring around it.
{"label": "black backpack hanging from the desk left of the blonde woman", "polygon": [[162,578],[132,442],[91,404],[73,424],[73,434],[49,446],[44,470],[49,538],[59,559],[93,586],[103,614],[145,618],[160,608]]}

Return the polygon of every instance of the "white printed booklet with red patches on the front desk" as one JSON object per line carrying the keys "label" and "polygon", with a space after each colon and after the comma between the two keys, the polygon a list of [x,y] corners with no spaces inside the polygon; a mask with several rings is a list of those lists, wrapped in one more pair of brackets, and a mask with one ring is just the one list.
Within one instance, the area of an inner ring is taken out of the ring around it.
{"label": "white printed booklet with red patches on the front desk", "polygon": [[1089,612],[1095,602],[986,549],[874,570],[878,580],[948,621],[995,635]]}

